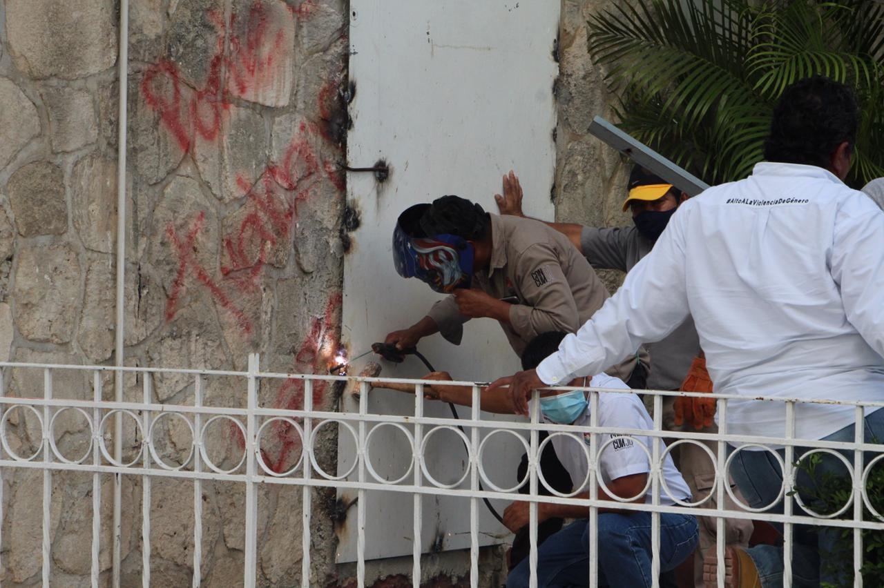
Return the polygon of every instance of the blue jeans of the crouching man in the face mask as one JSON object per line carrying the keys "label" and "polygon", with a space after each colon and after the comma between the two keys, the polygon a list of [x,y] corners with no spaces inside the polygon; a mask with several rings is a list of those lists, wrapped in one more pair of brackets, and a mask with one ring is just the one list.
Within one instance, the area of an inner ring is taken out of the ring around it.
{"label": "blue jeans of the crouching man in the face mask", "polygon": [[[589,520],[569,524],[537,548],[537,586],[553,588],[590,583]],[[674,569],[697,547],[697,518],[660,515],[660,571]],[[507,588],[529,585],[529,558],[507,577]],[[651,586],[651,513],[598,515],[598,585]]]}

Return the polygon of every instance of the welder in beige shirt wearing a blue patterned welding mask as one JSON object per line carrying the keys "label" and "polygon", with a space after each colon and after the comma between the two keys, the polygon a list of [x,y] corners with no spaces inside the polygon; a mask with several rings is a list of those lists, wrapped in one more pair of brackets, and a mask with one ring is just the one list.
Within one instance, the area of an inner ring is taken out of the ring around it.
{"label": "welder in beige shirt wearing a blue patterned welding mask", "polygon": [[[408,208],[396,224],[392,248],[400,275],[451,294],[411,327],[386,335],[385,343],[400,349],[434,333],[460,344],[463,323],[489,317],[521,354],[540,333],[575,332],[608,298],[568,237],[543,222],[491,215],[458,196]],[[607,373],[644,388],[647,366],[639,349]]]}

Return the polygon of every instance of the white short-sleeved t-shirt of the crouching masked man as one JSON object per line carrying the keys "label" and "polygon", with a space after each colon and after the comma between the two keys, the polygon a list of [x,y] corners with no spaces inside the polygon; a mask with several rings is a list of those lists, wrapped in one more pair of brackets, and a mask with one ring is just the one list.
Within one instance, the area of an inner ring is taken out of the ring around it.
{"label": "white short-sleeved t-shirt of the crouching masked man", "polygon": [[[629,390],[629,387],[619,378],[613,378],[605,373],[599,373],[592,376],[590,381],[591,388],[622,388]],[[545,422],[551,423],[548,418],[544,418]],[[573,425],[590,426],[590,406],[587,404],[586,411],[583,416],[577,418]],[[647,409],[644,408],[642,401],[632,392],[616,393],[601,392],[598,395],[598,426],[605,427],[622,427],[625,429],[646,429],[653,430],[654,425]],[[653,455],[652,438],[645,435],[625,436],[617,434],[604,433],[597,440],[596,447],[600,449],[607,441],[608,443],[602,450],[599,458],[598,473],[605,481],[606,485],[611,480],[622,478],[636,473],[644,473],[650,471],[648,455]],[[576,441],[575,441],[576,440]],[[585,444],[586,448],[590,447],[590,433],[575,433],[575,437],[566,437],[564,435],[554,435],[552,447],[555,449],[556,456],[559,461],[568,470],[571,476],[571,482],[575,485],[583,484],[587,480],[586,473],[589,470],[587,455],[589,451],[583,452],[577,445],[578,442]],[[648,453],[644,453],[641,445],[648,449]],[[662,451],[664,446],[660,444]],[[682,501],[690,501],[690,489],[682,478],[681,472],[675,468],[672,457],[667,454],[663,462],[663,477],[666,479],[668,491],[677,499]],[[580,491],[587,490],[588,484],[583,484]],[[608,486],[610,487],[610,486]],[[576,487],[575,487],[576,490]],[[674,501],[669,498],[667,493],[660,488],[660,504],[671,505]],[[649,487],[648,494],[645,496],[645,502],[651,502],[653,499]]]}

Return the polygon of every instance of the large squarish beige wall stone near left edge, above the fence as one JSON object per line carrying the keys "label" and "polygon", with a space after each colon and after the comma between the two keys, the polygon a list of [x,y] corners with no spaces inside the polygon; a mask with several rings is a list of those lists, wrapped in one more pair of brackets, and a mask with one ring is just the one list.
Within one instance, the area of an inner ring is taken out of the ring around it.
{"label": "large squarish beige wall stone near left edge, above the fence", "polygon": [[67,343],[80,305],[80,260],[70,245],[26,245],[12,290],[15,325],[30,341]]}

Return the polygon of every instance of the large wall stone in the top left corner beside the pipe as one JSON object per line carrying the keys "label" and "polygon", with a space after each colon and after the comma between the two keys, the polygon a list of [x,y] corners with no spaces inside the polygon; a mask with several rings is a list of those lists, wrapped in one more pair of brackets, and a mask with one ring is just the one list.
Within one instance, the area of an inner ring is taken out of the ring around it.
{"label": "large wall stone in the top left corner beside the pipe", "polygon": [[75,79],[117,61],[112,0],[7,0],[8,49],[32,78]]}

